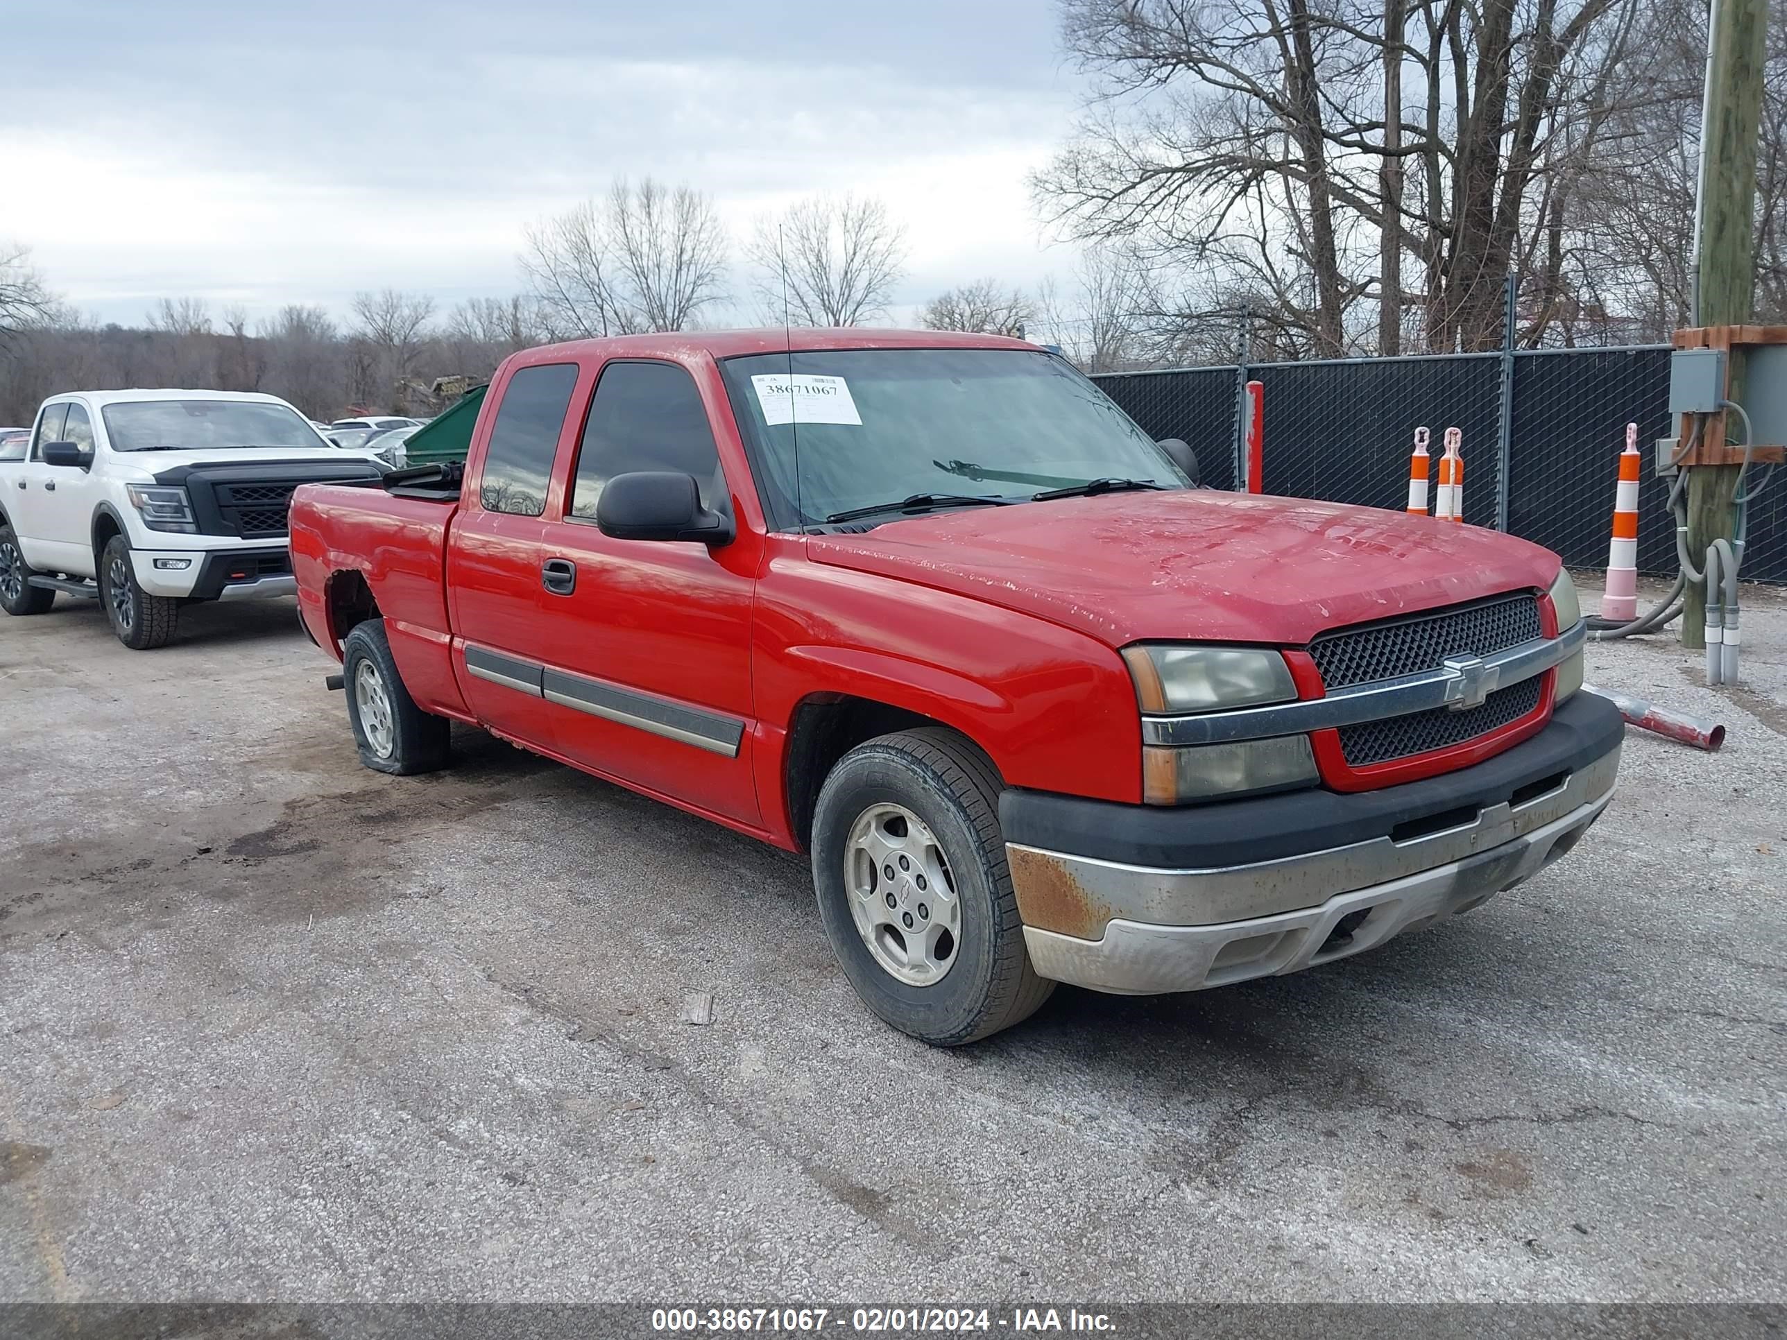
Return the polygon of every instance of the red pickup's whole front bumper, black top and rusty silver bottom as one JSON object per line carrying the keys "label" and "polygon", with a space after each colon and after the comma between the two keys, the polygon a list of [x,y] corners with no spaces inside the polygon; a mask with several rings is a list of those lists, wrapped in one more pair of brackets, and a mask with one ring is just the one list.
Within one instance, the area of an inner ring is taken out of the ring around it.
{"label": "red pickup's whole front bumper, black top and rusty silver bottom", "polygon": [[[1623,731],[1610,704],[1578,693],[1505,754],[1381,791],[1176,811],[1008,791],[1001,820],[1031,963],[1103,992],[1192,992],[1469,911],[1599,818]],[[1038,842],[1051,817],[1078,840]]]}

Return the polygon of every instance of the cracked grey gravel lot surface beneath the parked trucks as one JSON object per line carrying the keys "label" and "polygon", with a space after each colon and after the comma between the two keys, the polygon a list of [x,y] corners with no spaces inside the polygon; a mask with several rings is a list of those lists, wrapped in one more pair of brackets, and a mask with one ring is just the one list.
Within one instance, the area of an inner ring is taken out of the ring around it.
{"label": "cracked grey gravel lot surface beneath the parked trucks", "polygon": [[361,770],[291,602],[148,654],[0,618],[0,1299],[1782,1299],[1746,602],[1746,688],[1590,649],[1730,740],[1628,734],[1530,884],[954,1052],[858,1006],[783,854],[472,731]]}

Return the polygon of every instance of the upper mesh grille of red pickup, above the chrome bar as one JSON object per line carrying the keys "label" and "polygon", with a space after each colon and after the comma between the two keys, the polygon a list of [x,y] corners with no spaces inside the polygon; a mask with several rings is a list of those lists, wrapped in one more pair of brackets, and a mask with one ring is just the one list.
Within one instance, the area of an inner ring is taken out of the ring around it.
{"label": "upper mesh grille of red pickup, above the chrome bar", "polygon": [[1437,670],[1447,656],[1489,656],[1539,636],[1544,636],[1539,627],[1539,597],[1514,591],[1467,606],[1322,632],[1310,643],[1310,657],[1333,691]]}

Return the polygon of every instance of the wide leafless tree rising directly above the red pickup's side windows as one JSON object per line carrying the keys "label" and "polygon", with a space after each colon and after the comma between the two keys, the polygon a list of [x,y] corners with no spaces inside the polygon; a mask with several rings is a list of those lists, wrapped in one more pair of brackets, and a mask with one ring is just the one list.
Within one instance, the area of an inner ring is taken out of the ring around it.
{"label": "wide leafless tree rising directly above the red pickup's side windows", "polygon": [[686,331],[724,297],[726,229],[713,198],[647,177],[527,229],[522,273],[556,334]]}

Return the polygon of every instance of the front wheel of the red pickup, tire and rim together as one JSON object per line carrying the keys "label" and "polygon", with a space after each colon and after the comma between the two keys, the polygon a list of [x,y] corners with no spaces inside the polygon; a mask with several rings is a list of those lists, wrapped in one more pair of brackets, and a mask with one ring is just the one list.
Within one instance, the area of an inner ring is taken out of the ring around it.
{"label": "front wheel of the red pickup, tire and rim together", "polygon": [[813,890],[843,976],[936,1047],[1011,1027],[1054,990],[1024,947],[999,790],[972,743],[922,727],[845,754],[813,815]]}

